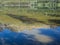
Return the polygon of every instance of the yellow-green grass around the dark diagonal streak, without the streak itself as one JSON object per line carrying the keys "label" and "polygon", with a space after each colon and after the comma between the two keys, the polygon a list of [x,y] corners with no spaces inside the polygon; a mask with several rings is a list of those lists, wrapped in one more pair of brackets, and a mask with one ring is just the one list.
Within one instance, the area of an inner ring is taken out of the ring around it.
{"label": "yellow-green grass around the dark diagonal streak, without the streak itself", "polygon": [[[10,0],[9,0],[10,1]],[[19,2],[20,0],[11,0],[12,2]],[[24,0],[23,0],[24,1]],[[3,23],[10,23],[10,24],[24,24],[21,22],[21,20],[12,18],[7,16],[7,14],[13,14],[13,15],[17,15],[17,16],[27,16],[28,18],[34,18],[37,19],[39,21],[44,21],[46,24],[50,24],[48,22],[49,19],[59,19],[60,17],[52,17],[52,16],[46,16],[43,13],[44,12],[40,12],[40,11],[29,11],[29,9],[20,9],[20,8],[8,8],[8,7],[1,7],[0,8],[0,22]],[[60,13],[60,12],[58,12]],[[60,24],[59,24],[60,25]]]}

